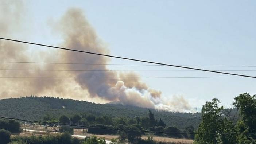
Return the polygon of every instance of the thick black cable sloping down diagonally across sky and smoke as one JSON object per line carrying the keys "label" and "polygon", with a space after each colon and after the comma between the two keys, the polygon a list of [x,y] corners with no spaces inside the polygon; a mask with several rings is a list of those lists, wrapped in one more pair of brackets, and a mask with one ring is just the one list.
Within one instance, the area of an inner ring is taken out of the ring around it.
{"label": "thick black cable sloping down diagonally across sky and smoke", "polygon": [[7,39],[7,38],[0,38],[0,39],[10,40],[10,41],[13,41],[13,42],[20,42],[20,43],[34,44],[34,45],[44,46],[44,47],[50,47],[50,48],[57,48],[57,49],[61,49],[61,50],[68,50],[68,51],[82,52],[82,53],[86,53],[86,54],[94,54],[94,55],[100,55],[100,56],[105,56],[105,57],[112,57],[112,58],[126,59],[126,60],[130,60],[130,61],[137,61],[137,62],[145,62],[145,63],[157,64],[157,65],[165,65],[165,66],[179,67],[179,68],[184,68],[184,69],[201,70],[201,71],[207,71],[207,72],[211,72],[211,73],[220,73],[220,74],[236,75],[236,76],[241,76],[241,77],[256,78],[256,77],[254,77],[254,76],[250,76],[250,75],[241,75],[241,74],[225,73],[225,72],[221,72],[221,71],[213,71],[213,70],[197,69],[197,68],[192,68],[192,67],[185,67],[185,66],[170,65],[170,64],[159,63],[159,62],[150,62],[150,61],[144,61],[144,60],[140,60],[140,59],[132,59],[132,58],[125,58],[125,57],[117,57],[117,56],[113,56],[113,55],[99,54],[99,53],[95,53],[95,52],[88,52],[88,51],[74,50],[74,49],[70,49],[70,48],[63,48],[63,47],[55,47],[55,46],[49,46],[49,45],[45,45],[45,44],[32,43],[32,42],[25,42],[25,41],[14,40],[14,39]]}

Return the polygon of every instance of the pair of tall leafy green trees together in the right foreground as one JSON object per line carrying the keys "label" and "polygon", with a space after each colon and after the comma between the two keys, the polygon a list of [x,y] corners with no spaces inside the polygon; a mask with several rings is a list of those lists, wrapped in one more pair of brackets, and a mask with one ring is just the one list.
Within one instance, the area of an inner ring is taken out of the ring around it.
{"label": "pair of tall leafy green trees together in the right foreground", "polygon": [[240,94],[234,98],[233,106],[240,111],[238,120],[231,113],[224,113],[224,107],[220,106],[218,99],[206,102],[202,108],[202,122],[194,143],[255,144],[256,96]]}

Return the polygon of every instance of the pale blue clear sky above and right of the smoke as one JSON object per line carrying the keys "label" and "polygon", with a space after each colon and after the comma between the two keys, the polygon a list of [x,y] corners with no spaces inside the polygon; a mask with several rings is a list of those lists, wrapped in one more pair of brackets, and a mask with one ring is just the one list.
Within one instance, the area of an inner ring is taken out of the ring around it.
{"label": "pale blue clear sky above and right of the smoke", "polygon": [[[111,55],[172,65],[256,66],[254,0],[27,0],[27,35],[13,38],[58,46],[52,23],[71,7],[81,8]],[[36,47],[33,47],[36,48]],[[49,62],[51,60],[49,59]],[[143,64],[112,59],[115,64]],[[183,70],[166,66],[109,66],[112,70]],[[210,70],[256,70],[256,67],[199,67]],[[185,70],[185,69],[184,69]],[[256,75],[256,71],[230,71]],[[228,76],[207,72],[139,72],[141,77]],[[253,78],[143,79],[164,97],[183,95],[193,106],[219,98],[256,94]]]}

